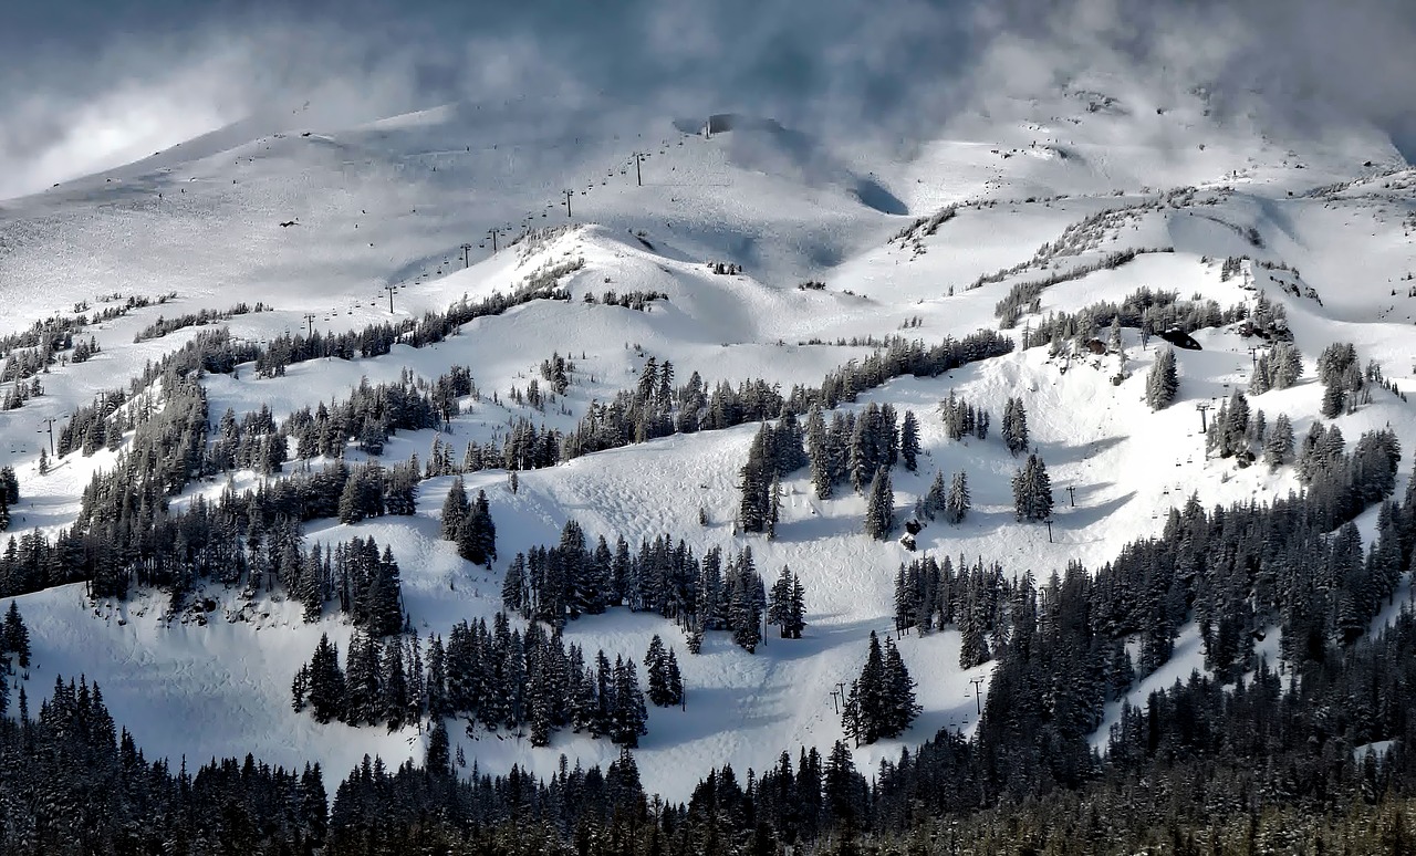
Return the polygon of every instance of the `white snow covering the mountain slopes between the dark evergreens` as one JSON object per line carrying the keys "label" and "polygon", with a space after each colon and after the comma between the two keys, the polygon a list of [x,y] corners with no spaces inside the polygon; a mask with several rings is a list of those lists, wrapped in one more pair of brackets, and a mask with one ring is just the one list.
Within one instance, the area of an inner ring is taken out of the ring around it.
{"label": "white snow covering the mountain slopes between the dark evergreens", "polygon": [[[506,291],[569,259],[583,259],[562,279],[569,301],[480,318],[435,347],[297,364],[275,379],[246,369],[239,378],[208,376],[212,419],[227,407],[239,415],[262,405],[283,419],[302,406],[347,398],[361,378],[394,381],[408,369],[430,379],[450,365],[469,365],[481,399],[466,400],[450,434],[440,437],[460,458],[469,440],[504,433],[515,416],[572,427],[592,400],[633,386],[649,357],[671,361],[678,382],[697,371],[709,386],[746,378],[783,389],[814,386],[871,352],[838,340],[899,334],[932,344],[997,327],[994,304],[1015,282],[1127,248],[1174,252],[1052,286],[1042,293],[1042,314],[1120,300],[1140,286],[1199,294],[1222,307],[1252,306],[1263,289],[1286,307],[1307,374],[1296,388],[1250,402],[1270,424],[1289,413],[1298,437],[1318,412],[1314,359],[1330,342],[1355,342],[1364,364],[1376,359],[1402,389],[1416,388],[1416,297],[1409,296],[1416,286],[1416,173],[1389,143],[1361,129],[1344,146],[1274,140],[1206,117],[1198,98],[1168,103],[1163,113],[1150,103],[1121,103],[1126,110],[1092,110],[1075,91],[1017,100],[987,117],[960,116],[936,140],[895,157],[833,149],[760,123],[705,140],[681,133],[671,117],[617,129],[588,122],[585,133],[547,136],[527,130],[534,125],[514,106],[452,105],[353,129],[263,134],[245,123],[113,173],[0,202],[0,299],[8,310],[0,332],[72,314],[81,300],[93,311],[113,304],[105,296],[178,294],[86,331],[101,354],[55,366],[41,376],[44,396],[0,415],[0,453],[20,474],[23,494],[11,529],[52,533],[72,524],[84,485],[113,456],[69,454],[40,475],[37,456],[48,440],[35,432],[42,419],[62,420],[98,392],[126,386],[147,361],[202,330],[135,344],[135,334],[159,316],[265,301],[276,311],[224,324],[252,340],[303,330],[307,321],[351,330],[389,318],[385,286],[398,286],[394,316],[418,316],[463,296]],[[649,156],[643,185],[636,151]],[[1197,192],[1167,194],[1181,185]],[[572,191],[572,216],[564,190]],[[933,235],[891,241],[913,218],[946,204],[957,204],[957,214]],[[1126,211],[1086,242],[1035,256],[1069,225],[1106,209]],[[523,224],[566,228],[508,248]],[[496,255],[484,238],[494,228],[507,229]],[[1262,246],[1245,236],[1249,228]],[[472,245],[466,269],[464,242]],[[1246,265],[1243,276],[1222,282],[1219,262],[1228,255],[1283,262],[1298,276]],[[709,262],[739,263],[743,273],[715,274]],[[1027,265],[1001,282],[970,290],[980,276],[1020,263]],[[811,279],[827,287],[797,289]],[[1298,296],[1280,282],[1296,283]],[[668,300],[647,313],[583,303],[585,294],[606,290],[654,290]],[[1121,368],[1114,354],[1068,362],[1031,348],[946,376],[902,378],[851,406],[889,402],[920,419],[919,473],[893,474],[898,521],[936,470],[969,474],[969,519],[930,524],[919,536],[920,553],[997,560],[1011,573],[1031,570],[1045,580],[1068,560],[1096,567],[1127,540],[1158,532],[1165,511],[1192,492],[1212,507],[1297,488],[1291,467],[1270,473],[1205,460],[1195,405],[1247,386],[1253,340],[1233,328],[1202,331],[1197,340],[1202,351],[1177,352],[1181,400],[1158,413],[1141,399],[1161,342],[1143,348],[1131,330],[1124,335],[1127,376],[1119,385],[1112,382]],[[576,364],[569,393],[547,413],[513,405],[511,388],[524,389],[552,352]],[[950,391],[993,412],[994,436],[944,437],[937,406]],[[997,439],[1008,395],[1024,399],[1032,441],[1049,467],[1058,501],[1051,540],[1045,526],[1014,521],[1008,480],[1018,461]],[[1371,405],[1337,424],[1349,443],[1362,430],[1391,424],[1406,450],[1403,488],[1416,450],[1412,405],[1375,391]],[[687,709],[651,707],[636,757],[647,788],[681,799],[709,765],[762,770],[782,750],[824,750],[841,737],[830,692],[860,672],[868,632],[892,630],[895,570],[918,556],[893,540],[867,539],[864,499],[845,490],[818,501],[806,471],[783,484],[776,540],[733,535],[738,470],[755,430],[675,436],[521,473],[517,494],[501,470],[469,475],[470,491],[487,491],[497,524],[500,562],[491,572],[467,565],[438,538],[450,478],[421,485],[412,518],[355,526],[321,521],[306,535],[312,543],[333,543],[358,533],[391,546],[423,640],[446,635],[459,620],[494,614],[507,560],[554,542],[571,518],[590,538],[623,535],[634,548],[656,535],[684,538],[700,556],[712,546],[750,545],[769,584],[790,566],[806,584],[806,638],[783,641],[769,631],[755,655],[725,634],[711,634],[700,657],[688,655],[673,624],[623,608],[566,627],[568,640],[590,654],[603,648],[612,658],[641,659],[656,632],[678,651]],[[432,441],[432,432],[399,433],[384,460],[426,460]],[[351,450],[348,457],[361,456]],[[249,487],[258,477],[239,473],[231,482]],[[188,494],[217,495],[225,487],[218,480]],[[1068,487],[1076,488],[1075,508]],[[1361,521],[1368,535],[1371,518]],[[55,675],[86,675],[102,685],[115,717],[150,757],[188,763],[249,751],[286,765],[319,761],[329,775],[343,777],[365,753],[391,764],[421,758],[418,729],[320,726],[290,709],[290,679],[320,634],[329,632],[341,651],[347,647],[343,620],[304,624],[297,607],[261,594],[234,621],[238,593],[208,596],[218,607],[205,624],[164,620],[160,593],[126,604],[91,603],[81,586],[21,597],[35,651],[25,683],[33,703]],[[1202,666],[1198,638],[1192,628],[1187,634],[1175,659],[1136,688],[1137,699]],[[940,727],[967,731],[977,719],[970,678],[987,676],[990,666],[960,671],[956,632],[908,635],[899,645],[925,713],[902,739],[857,750],[861,770]],[[452,734],[469,764],[476,760],[484,771],[518,763],[549,773],[562,753],[588,765],[619,751],[569,733],[542,750],[506,733],[469,737],[455,726]],[[1103,726],[1097,744],[1104,737]]]}

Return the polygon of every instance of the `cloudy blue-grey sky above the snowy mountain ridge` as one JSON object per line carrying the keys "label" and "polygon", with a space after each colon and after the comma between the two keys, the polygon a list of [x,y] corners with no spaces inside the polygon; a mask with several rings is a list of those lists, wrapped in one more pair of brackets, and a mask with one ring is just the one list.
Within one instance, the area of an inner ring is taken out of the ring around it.
{"label": "cloudy blue-grey sky above the snowy mountain ridge", "polygon": [[1087,64],[1263,88],[1410,153],[1413,44],[1412,0],[6,0],[0,198],[304,100],[358,120],[554,93],[925,136],[1007,78]]}

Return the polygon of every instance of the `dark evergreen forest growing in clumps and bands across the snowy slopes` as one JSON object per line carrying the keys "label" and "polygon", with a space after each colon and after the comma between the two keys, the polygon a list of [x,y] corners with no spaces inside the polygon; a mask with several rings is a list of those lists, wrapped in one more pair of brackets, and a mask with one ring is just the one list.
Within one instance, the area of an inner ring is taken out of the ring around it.
{"label": "dark evergreen forest growing in clumps and bands across the snowy slopes", "polygon": [[[1273,465],[1291,454],[1301,494],[1209,509],[1191,497],[1171,509],[1161,535],[1126,545],[1102,567],[1070,563],[1045,580],[981,557],[953,563],[926,555],[899,569],[896,631],[959,630],[960,665],[991,668],[971,736],[942,730],[868,771],[854,767],[840,741],[826,757],[814,748],[793,757],[783,747],[762,771],[704,771],[683,804],[646,794],[629,751],[647,719],[636,662],[619,655],[612,664],[599,652],[592,664],[565,644],[565,623],[616,607],[653,610],[684,628],[690,651],[701,648],[708,631],[729,632],[753,651],[763,644],[763,618],[783,638],[801,635],[797,576],[783,569],[769,594],[750,548],[736,555],[714,548],[697,557],[684,539],[668,536],[637,550],[623,538],[613,548],[605,538],[590,546],[571,521],[556,545],[510,562],[507,613],[490,627],[460,623],[446,642],[435,635],[423,647],[405,632],[392,553],[361,538],[307,546],[300,524],[412,514],[418,484],[429,474],[416,458],[388,468],[377,461],[347,465],[338,450],[353,441],[377,454],[394,430],[445,423],[456,399],[474,389],[470,371],[433,385],[408,376],[398,385],[361,385],[347,402],[321,406],[323,417],[303,412],[285,426],[269,412],[239,420],[231,413],[214,426],[200,383],[202,372],[229,374],[252,359],[259,374],[279,375],[299,359],[387,354],[395,341],[430,344],[477,313],[558,296],[554,280],[534,286],[348,337],[286,337],[259,348],[225,331],[198,334],[127,391],[74,415],[59,436],[61,454],[109,447],[119,450],[115,467],[85,488],[74,526],[52,539],[38,531],[10,539],[0,555],[0,596],[79,580],[92,597],[160,586],[170,590],[176,611],[210,580],[280,587],[310,620],[336,604],[355,625],[354,642],[341,658],[321,640],[295,675],[293,706],[320,722],[396,729],[426,720],[423,763],[389,770],[365,758],[336,785],[330,805],[319,767],[287,771],[248,756],[212,758],[191,773],[184,761],[177,768],[149,761],[113,722],[98,683],[84,676],[57,679],[31,715],[27,631],[11,607],[0,630],[0,681],[10,681],[16,666],[21,679],[16,716],[0,717],[0,850],[650,856],[766,855],[786,845],[820,853],[1416,849],[1409,748],[1416,737],[1409,713],[1416,709],[1416,611],[1396,603],[1416,548],[1416,478],[1398,502],[1400,449],[1391,430],[1366,432],[1348,451],[1335,424],[1317,422],[1294,440],[1289,423],[1284,451],[1279,426],[1287,419],[1269,432],[1256,427],[1263,420],[1238,392],[1215,422],[1211,450],[1229,458],[1257,447]],[[573,432],[561,436],[523,420],[496,454],[479,451],[464,461],[508,470],[552,465],[671,433],[759,422],[760,447],[749,463],[759,481],[787,465],[810,465],[813,481],[820,473],[821,495],[845,482],[875,494],[888,488],[882,477],[908,454],[895,415],[871,405],[854,423],[837,413],[828,426],[824,410],[891,378],[935,376],[1011,347],[994,332],[935,348],[893,341],[833,372],[820,388],[786,395],[760,381],[709,392],[697,374],[675,386],[673,368],[650,361],[636,389],[595,405]],[[1274,349],[1273,375],[1266,369],[1260,383],[1294,379],[1284,354]],[[1364,374],[1342,345],[1324,352],[1318,374],[1330,419],[1355,406],[1352,393],[1374,381],[1372,369]],[[1021,400],[1008,403],[1001,433],[1021,454],[1025,413]],[[978,415],[987,412],[973,407],[970,416],[969,407],[956,400],[953,419],[960,427],[971,420],[983,439],[987,419]],[[804,429],[799,416],[807,417]],[[767,426],[769,419],[776,424]],[[224,470],[280,471],[290,439],[309,453],[296,457],[334,460],[319,471],[300,465],[256,490],[170,508],[188,484]],[[1270,449],[1279,449],[1272,458]],[[1029,456],[1034,484],[1045,475],[1041,465]],[[445,461],[436,467],[446,474]],[[961,499],[953,487],[943,497],[942,474],[937,484],[930,509],[961,518],[966,482],[954,482]],[[760,505],[763,494],[753,490]],[[1041,488],[1022,492],[1041,501]],[[0,485],[0,494],[11,491]],[[490,525],[483,501],[467,501],[464,521],[481,514]],[[1375,535],[1364,546],[1355,521],[1372,508]],[[769,518],[770,505],[763,511]],[[1029,507],[1027,516],[1041,514]],[[494,556],[494,526],[459,525],[450,539],[459,549],[466,542],[469,553]],[[511,627],[510,613],[528,621],[524,631]],[[1378,615],[1388,621],[1374,631]],[[1177,637],[1191,623],[1205,673],[1178,675],[1144,699],[1133,698],[1140,681],[1171,662]],[[1270,634],[1279,634],[1279,644],[1264,647]],[[1272,661],[1263,649],[1276,651]],[[681,683],[675,695],[670,664],[677,665],[674,654],[663,647],[646,657],[656,705],[684,703],[691,695]],[[874,641],[852,689],[847,724],[862,743],[898,734],[913,719],[912,681],[889,640]],[[452,751],[452,716],[483,731],[525,730],[538,746],[561,729],[586,730],[624,751],[603,771],[566,761],[544,778],[518,768],[490,775]],[[1106,750],[1099,751],[1093,734],[1107,723]],[[1385,741],[1385,751],[1364,748]]]}

